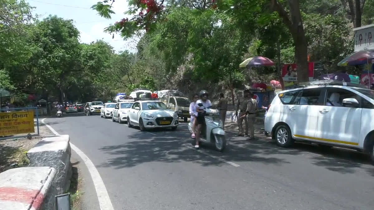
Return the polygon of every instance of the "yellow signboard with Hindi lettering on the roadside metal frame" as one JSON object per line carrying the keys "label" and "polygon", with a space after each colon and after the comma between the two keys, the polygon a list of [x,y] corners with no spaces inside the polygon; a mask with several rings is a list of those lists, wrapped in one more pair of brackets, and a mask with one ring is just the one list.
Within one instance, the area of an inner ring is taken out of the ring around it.
{"label": "yellow signboard with Hindi lettering on the roadside metal frame", "polygon": [[0,136],[34,132],[34,111],[0,113]]}

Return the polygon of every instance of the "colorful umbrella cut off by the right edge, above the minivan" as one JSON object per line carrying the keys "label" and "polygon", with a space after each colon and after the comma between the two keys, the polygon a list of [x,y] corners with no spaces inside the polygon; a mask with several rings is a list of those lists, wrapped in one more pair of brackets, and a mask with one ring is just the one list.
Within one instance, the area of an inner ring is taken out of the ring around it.
{"label": "colorful umbrella cut off by the right edge, above the minivan", "polygon": [[352,53],[338,63],[338,66],[354,66],[372,63],[374,59],[374,49],[364,49],[358,52]]}

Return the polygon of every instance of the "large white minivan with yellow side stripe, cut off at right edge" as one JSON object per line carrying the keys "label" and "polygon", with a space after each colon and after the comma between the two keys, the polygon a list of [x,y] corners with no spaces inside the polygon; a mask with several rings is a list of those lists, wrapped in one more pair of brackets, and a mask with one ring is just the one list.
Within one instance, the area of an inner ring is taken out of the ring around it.
{"label": "large white minivan with yellow side stripe, cut off at right edge", "polygon": [[279,146],[294,140],[370,154],[374,162],[374,91],[361,85],[322,80],[279,92],[265,117],[265,131]]}

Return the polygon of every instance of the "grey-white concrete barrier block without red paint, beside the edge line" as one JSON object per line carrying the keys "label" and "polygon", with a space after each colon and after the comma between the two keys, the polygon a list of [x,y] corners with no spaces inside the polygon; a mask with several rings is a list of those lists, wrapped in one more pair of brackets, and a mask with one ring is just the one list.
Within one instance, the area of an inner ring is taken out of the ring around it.
{"label": "grey-white concrete barrier block without red paint, beside the edge line", "polygon": [[70,186],[71,178],[71,148],[69,135],[49,136],[42,139],[27,152],[32,167],[53,167],[56,178],[53,186],[58,194],[64,193]]}

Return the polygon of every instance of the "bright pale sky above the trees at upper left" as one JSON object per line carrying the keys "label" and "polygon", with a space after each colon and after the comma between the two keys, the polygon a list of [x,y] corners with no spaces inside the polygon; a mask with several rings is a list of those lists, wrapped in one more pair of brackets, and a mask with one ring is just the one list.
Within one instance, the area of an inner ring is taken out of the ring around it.
{"label": "bright pale sky above the trees at upper left", "polygon": [[119,34],[112,35],[105,33],[104,28],[109,24],[120,21],[122,18],[129,18],[124,15],[128,8],[127,0],[116,0],[113,3],[113,11],[116,14],[111,15],[112,19],[100,17],[95,10],[90,9],[93,4],[100,0],[26,0],[30,6],[36,7],[34,15],[41,15],[39,19],[44,19],[49,15],[57,15],[64,19],[73,19],[74,25],[80,31],[80,42],[90,43],[102,39],[110,44],[114,50],[129,50],[135,52],[136,40],[129,39],[124,41]]}

